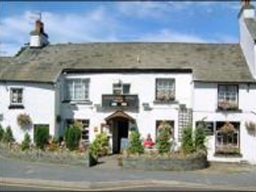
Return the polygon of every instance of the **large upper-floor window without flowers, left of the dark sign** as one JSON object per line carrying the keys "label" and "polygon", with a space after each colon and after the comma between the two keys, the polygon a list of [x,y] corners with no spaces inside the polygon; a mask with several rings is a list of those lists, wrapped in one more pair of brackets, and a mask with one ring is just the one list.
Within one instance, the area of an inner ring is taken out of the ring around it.
{"label": "large upper-floor window without flowers, left of the dark sign", "polygon": [[67,79],[66,100],[88,100],[89,79]]}

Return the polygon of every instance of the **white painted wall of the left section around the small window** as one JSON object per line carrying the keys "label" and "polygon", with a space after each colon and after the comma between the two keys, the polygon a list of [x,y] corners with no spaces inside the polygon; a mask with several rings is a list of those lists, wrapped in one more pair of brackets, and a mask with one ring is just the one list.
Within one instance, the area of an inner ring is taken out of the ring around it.
{"label": "white painted wall of the left section around the small window", "polygon": [[[24,109],[8,109],[10,105],[10,88],[23,88]],[[0,124],[6,128],[11,126],[13,135],[18,142],[24,139],[25,132],[17,124],[17,116],[26,113],[33,124],[49,124],[51,135],[55,133],[55,91],[52,84],[0,82],[0,114],[4,118]],[[28,131],[33,140],[33,128]]]}

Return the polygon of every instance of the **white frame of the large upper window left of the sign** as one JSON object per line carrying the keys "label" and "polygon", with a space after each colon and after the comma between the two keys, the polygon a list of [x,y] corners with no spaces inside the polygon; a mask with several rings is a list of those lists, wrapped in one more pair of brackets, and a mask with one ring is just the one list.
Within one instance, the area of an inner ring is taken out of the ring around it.
{"label": "white frame of the large upper window left of the sign", "polygon": [[[79,80],[80,81],[80,86],[82,87],[82,97],[81,98],[75,98],[75,82]],[[68,87],[68,81],[72,81],[72,93],[71,97],[69,95],[69,87]],[[89,100],[89,89],[90,89],[90,79],[89,78],[67,78],[65,80],[65,100],[70,100],[70,101],[81,101],[81,100]],[[87,85],[87,86],[86,86]],[[87,90],[86,90],[87,89]],[[87,97],[86,97],[87,95]]]}

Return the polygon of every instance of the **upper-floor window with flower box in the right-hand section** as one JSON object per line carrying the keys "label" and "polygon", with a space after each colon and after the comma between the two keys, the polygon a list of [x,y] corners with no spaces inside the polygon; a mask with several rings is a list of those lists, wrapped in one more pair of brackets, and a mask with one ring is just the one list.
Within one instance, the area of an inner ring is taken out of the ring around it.
{"label": "upper-floor window with flower box in the right-hand section", "polygon": [[218,86],[218,108],[237,109],[238,108],[238,86],[219,85]]}

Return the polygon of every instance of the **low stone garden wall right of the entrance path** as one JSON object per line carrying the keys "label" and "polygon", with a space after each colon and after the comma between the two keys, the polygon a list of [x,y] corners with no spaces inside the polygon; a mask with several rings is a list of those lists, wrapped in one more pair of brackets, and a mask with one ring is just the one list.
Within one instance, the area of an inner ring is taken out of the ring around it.
{"label": "low stone garden wall right of the entrance path", "polygon": [[123,167],[126,169],[159,170],[159,171],[190,171],[207,167],[205,155],[190,157],[125,157]]}

